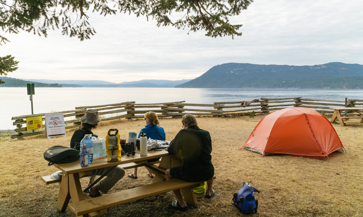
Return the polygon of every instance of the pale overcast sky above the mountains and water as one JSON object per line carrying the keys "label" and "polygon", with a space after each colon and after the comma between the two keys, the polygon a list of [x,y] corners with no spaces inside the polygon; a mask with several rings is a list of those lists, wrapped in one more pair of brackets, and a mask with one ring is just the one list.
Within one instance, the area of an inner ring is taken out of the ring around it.
{"label": "pale overcast sky above the mountains and water", "polygon": [[97,31],[90,40],[49,31],[48,38],[22,31],[0,56],[19,61],[13,78],[50,80],[181,80],[224,63],[363,64],[362,0],[255,0],[231,24],[242,36],[209,38],[205,32],[157,27],[131,14],[88,13]]}

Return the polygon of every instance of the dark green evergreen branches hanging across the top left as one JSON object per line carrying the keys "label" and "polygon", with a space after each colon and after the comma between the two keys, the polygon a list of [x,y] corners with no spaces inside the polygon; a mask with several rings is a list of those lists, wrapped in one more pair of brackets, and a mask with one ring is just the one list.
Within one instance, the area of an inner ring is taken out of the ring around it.
{"label": "dark green evergreen branches hanging across the top left", "polygon": [[[205,30],[207,36],[242,35],[240,24],[232,25],[228,17],[240,14],[253,0],[13,0],[7,4],[0,0],[0,28],[6,33],[25,30],[47,37],[48,30],[62,29],[63,35],[90,39],[96,33],[88,22],[89,12],[104,16],[116,13],[134,13],[157,21],[157,26],[172,25],[189,31]],[[170,15],[181,13],[172,21]],[[0,45],[9,42],[0,35]],[[8,57],[8,56],[7,56]],[[7,58],[5,57],[5,58]],[[11,59],[12,71],[17,61]],[[9,65],[8,65],[9,66]],[[7,75],[7,68],[0,65],[0,75]],[[5,73],[4,73],[5,72]],[[1,81],[0,81],[1,82]],[[0,83],[1,84],[1,83]]]}

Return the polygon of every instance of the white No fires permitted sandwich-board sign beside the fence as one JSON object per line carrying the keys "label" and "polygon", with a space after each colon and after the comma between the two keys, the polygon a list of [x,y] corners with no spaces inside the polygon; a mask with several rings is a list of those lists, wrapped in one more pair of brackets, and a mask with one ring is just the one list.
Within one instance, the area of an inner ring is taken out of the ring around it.
{"label": "white No fires permitted sandwich-board sign beside the fence", "polygon": [[52,136],[66,137],[63,113],[45,115],[45,135],[47,135],[48,139]]}

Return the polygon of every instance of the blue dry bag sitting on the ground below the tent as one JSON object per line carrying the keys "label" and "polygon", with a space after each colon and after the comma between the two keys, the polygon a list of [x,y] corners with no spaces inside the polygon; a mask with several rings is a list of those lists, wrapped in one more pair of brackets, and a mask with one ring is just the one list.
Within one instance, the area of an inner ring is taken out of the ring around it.
{"label": "blue dry bag sitting on the ground below the tent", "polygon": [[260,192],[249,183],[243,182],[243,187],[234,193],[232,203],[242,212],[253,214],[257,212],[258,201],[255,200],[253,192]]}

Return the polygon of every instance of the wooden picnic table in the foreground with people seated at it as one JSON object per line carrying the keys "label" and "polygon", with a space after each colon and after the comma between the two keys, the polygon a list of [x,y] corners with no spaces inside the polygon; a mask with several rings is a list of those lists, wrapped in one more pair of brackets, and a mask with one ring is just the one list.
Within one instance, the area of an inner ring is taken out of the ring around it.
{"label": "wooden picnic table in the foreground with people seated at it", "polygon": [[[159,166],[147,163],[148,159],[159,158]],[[135,166],[123,166],[123,165]],[[150,165],[151,164],[151,165]],[[107,212],[107,208],[128,203],[130,201],[138,200],[144,197],[157,195],[167,191],[179,189],[184,195],[184,199],[187,204],[197,207],[196,196],[192,188],[202,186],[204,182],[189,183],[180,179],[166,180],[165,170],[171,167],[178,167],[183,165],[181,153],[178,155],[170,155],[167,150],[150,150],[147,156],[140,156],[136,153],[134,156],[123,155],[121,161],[108,162],[107,158],[94,159],[87,167],[81,167],[80,161],[72,163],[53,164],[55,167],[63,171],[63,176],[60,183],[60,190],[57,201],[57,208],[61,212],[64,212],[67,206],[76,214],[76,216],[87,217],[96,216]],[[92,170],[121,166],[125,169],[134,168],[138,166],[147,166],[147,169],[154,173],[154,179],[152,184],[147,186],[140,186],[123,190],[120,192],[109,193],[107,195],[99,197],[90,197],[82,191],[81,183],[79,179],[90,174]],[[213,177],[215,179],[215,176]],[[72,199],[72,203],[69,204],[69,200]]]}

